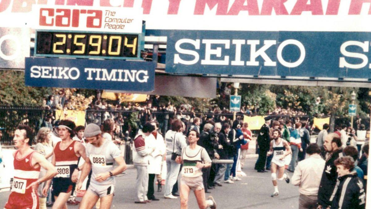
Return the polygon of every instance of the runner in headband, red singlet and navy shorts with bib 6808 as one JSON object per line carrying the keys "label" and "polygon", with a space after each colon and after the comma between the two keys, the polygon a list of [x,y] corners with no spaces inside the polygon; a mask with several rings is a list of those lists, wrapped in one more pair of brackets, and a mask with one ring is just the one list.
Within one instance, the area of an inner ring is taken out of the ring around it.
{"label": "runner in headband, red singlet and navy shorts with bib 6808", "polygon": [[[76,125],[70,120],[61,120],[58,125],[58,133],[62,141],[54,146],[52,164],[57,168],[58,174],[53,178],[52,195],[55,197],[53,209],[67,208],[67,200],[75,189],[79,171],[84,164],[78,167],[79,158],[85,161],[85,147],[79,141],[74,141],[73,131]],[[50,185],[50,180],[47,183]],[[43,191],[44,192],[44,191]],[[45,191],[46,193],[46,191]]]}

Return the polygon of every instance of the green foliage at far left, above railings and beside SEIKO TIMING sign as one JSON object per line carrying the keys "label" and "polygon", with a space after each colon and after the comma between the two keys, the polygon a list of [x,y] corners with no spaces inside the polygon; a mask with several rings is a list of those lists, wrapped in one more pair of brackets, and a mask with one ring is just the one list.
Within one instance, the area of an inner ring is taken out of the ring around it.
{"label": "green foliage at far left, above railings and beside SEIKO TIMING sign", "polygon": [[0,104],[12,106],[41,106],[42,99],[52,93],[52,88],[24,85],[24,72],[0,71]]}

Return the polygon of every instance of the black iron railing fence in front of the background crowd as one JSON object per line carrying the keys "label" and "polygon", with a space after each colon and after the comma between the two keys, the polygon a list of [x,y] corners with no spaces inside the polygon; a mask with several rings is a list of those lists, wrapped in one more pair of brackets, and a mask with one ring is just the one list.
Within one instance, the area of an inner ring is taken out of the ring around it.
{"label": "black iron railing fence in front of the background crowd", "polygon": [[[250,114],[249,116],[256,116],[257,114]],[[19,106],[0,106],[0,127],[5,128],[3,130],[3,137],[1,138],[2,145],[12,145],[12,139],[14,131],[20,123],[29,125],[35,130],[35,135],[41,127],[50,127],[54,124],[56,116],[55,109],[45,109],[42,107],[19,107]],[[244,114],[238,112],[236,114],[237,119],[243,120]],[[313,118],[308,115],[301,116],[288,116],[288,115],[270,115],[274,120],[279,119],[290,119],[292,121],[295,118],[300,120],[309,119],[313,122]],[[162,134],[166,133],[170,129],[171,120],[177,118],[181,119],[185,125],[186,130],[189,129],[193,122],[194,117],[201,118],[201,121],[213,119],[215,122],[230,122],[233,119],[233,113],[194,113],[194,112],[148,112],[148,110],[124,110],[124,109],[87,109],[85,110],[85,122],[96,123],[100,125],[105,119],[113,118],[116,123],[121,127],[119,133],[120,138],[125,138],[125,132],[128,132],[130,138],[134,138],[137,134],[138,129],[141,125],[148,120],[157,120],[160,124],[159,130]],[[357,128],[357,119],[354,118],[354,127]],[[339,126],[341,124],[350,124],[350,118],[332,118],[334,120],[333,126]],[[370,119],[361,118],[361,123],[366,126],[366,129],[370,128]],[[202,123],[201,123],[202,129]],[[128,139],[127,137],[125,139]]]}

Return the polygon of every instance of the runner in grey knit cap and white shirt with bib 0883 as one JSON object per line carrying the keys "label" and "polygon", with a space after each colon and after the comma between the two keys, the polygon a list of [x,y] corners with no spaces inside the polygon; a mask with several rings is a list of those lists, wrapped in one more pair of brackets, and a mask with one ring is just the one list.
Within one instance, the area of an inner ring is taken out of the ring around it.
{"label": "runner in grey knit cap and white shirt with bib 0883", "polygon": [[[86,161],[76,184],[76,192],[81,192],[82,183],[91,170],[92,176],[79,208],[91,209],[99,198],[101,199],[100,209],[111,208],[115,191],[114,176],[125,171],[127,165],[119,148],[111,140],[102,137],[98,125],[94,123],[87,125],[84,137],[86,139]],[[114,161],[117,164],[115,168],[113,167]]]}

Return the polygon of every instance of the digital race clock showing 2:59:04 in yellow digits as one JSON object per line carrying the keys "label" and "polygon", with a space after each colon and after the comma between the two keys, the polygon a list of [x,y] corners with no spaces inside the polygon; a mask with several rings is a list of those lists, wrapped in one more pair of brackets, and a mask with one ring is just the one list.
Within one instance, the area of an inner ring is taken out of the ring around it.
{"label": "digital race clock showing 2:59:04 in yellow digits", "polygon": [[140,59],[142,34],[36,30],[35,56]]}

